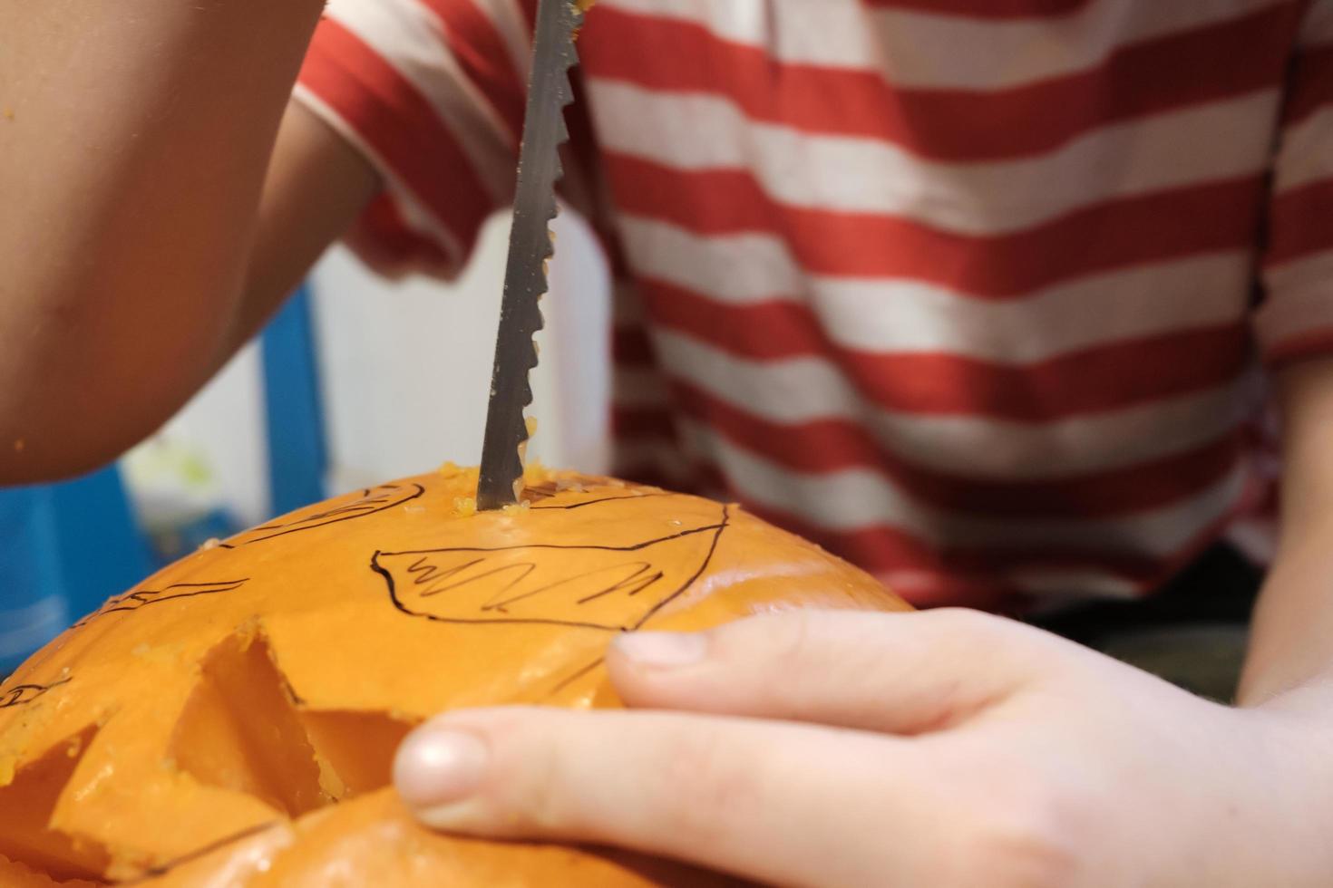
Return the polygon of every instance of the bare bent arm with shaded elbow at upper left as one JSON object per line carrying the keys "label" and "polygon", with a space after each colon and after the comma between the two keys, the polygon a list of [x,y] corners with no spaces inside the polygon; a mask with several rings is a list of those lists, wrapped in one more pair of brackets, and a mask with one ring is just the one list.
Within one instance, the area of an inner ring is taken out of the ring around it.
{"label": "bare bent arm with shaded elbow at upper left", "polygon": [[321,0],[0,0],[0,483],[149,434],[379,188],[289,96]]}

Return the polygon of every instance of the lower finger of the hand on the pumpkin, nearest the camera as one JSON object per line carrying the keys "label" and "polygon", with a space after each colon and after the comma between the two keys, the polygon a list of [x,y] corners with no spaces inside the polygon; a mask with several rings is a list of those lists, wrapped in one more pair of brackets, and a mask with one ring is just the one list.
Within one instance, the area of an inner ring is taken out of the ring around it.
{"label": "lower finger of the hand on the pumpkin, nearest the camera", "polygon": [[948,857],[957,819],[924,756],[804,724],[476,710],[411,735],[395,783],[453,832],[609,844],[766,883],[937,884],[922,857]]}

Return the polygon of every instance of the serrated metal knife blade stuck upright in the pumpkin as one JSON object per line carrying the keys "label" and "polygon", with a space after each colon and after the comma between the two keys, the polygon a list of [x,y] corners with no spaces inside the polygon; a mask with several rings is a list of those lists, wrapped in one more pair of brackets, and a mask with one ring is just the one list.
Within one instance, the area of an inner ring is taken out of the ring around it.
{"label": "serrated metal knife blade stuck upright in the pumpkin", "polygon": [[540,300],[547,292],[547,262],[555,254],[549,226],[557,213],[555,188],[563,173],[559,149],[569,138],[564,109],[573,101],[569,69],[579,63],[575,36],[587,5],[587,0],[540,0],[537,5],[513,228],[481,445],[477,509],[483,510],[516,503],[523,485],[523,446],[528,441],[524,409],[532,403],[528,377],[537,366],[532,337],[543,326]]}

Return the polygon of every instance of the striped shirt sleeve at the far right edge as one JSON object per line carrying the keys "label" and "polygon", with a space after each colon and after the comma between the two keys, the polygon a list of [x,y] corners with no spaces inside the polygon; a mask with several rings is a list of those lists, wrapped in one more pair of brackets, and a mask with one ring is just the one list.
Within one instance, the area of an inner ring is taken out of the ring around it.
{"label": "striped shirt sleeve at the far right edge", "polygon": [[1268,218],[1264,357],[1333,354],[1333,0],[1312,0],[1292,59]]}

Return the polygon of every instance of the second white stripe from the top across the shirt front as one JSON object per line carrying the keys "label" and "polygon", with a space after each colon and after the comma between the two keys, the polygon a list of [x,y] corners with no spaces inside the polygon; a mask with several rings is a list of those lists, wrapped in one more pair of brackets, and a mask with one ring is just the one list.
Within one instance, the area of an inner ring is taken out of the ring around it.
{"label": "second white stripe from the top across the shirt front", "polygon": [[953,164],[877,138],[750,121],[718,96],[596,77],[589,93],[607,150],[686,172],[752,170],[789,206],[897,216],[961,234],[1014,232],[1113,198],[1262,172],[1278,103],[1269,89],[1104,126],[1038,157]]}

